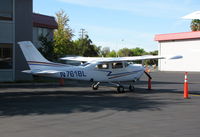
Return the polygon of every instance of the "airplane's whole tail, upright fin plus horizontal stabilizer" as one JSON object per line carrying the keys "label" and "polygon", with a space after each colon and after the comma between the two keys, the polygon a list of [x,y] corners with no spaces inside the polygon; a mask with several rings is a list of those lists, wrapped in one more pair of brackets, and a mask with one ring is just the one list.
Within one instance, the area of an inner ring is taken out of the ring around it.
{"label": "airplane's whole tail, upright fin plus horizontal stabilizer", "polygon": [[31,69],[22,71],[24,73],[40,76],[60,77],[60,72],[63,72],[63,67],[69,67],[69,65],[66,64],[48,61],[30,41],[22,41],[18,42],[18,44]]}

